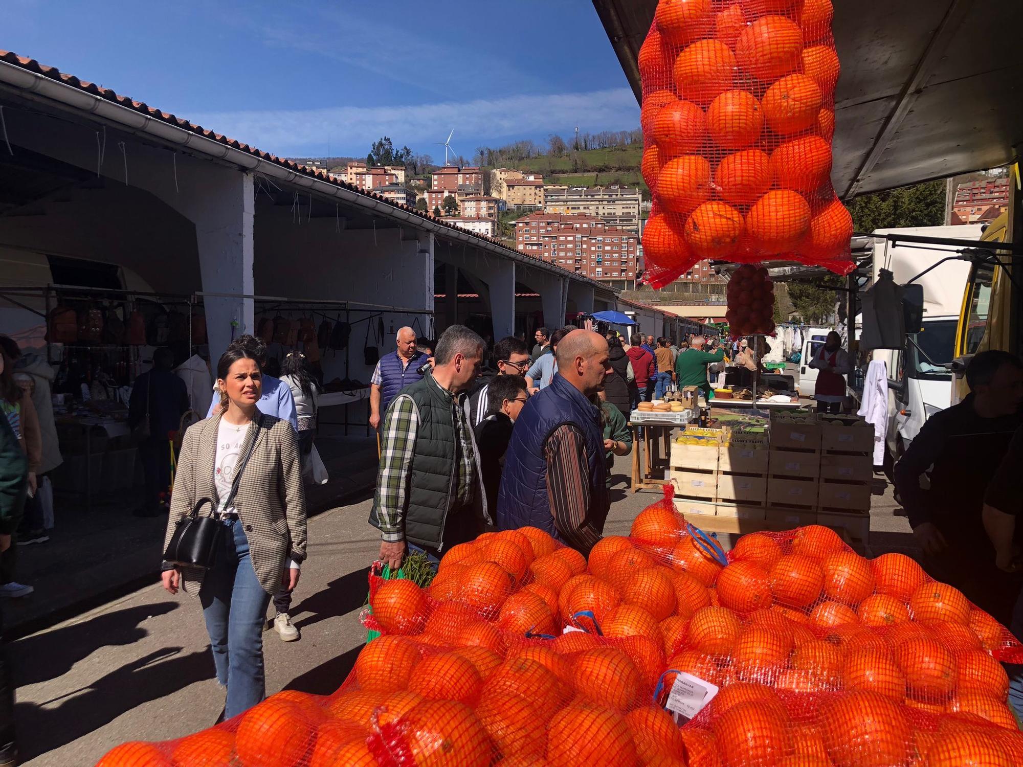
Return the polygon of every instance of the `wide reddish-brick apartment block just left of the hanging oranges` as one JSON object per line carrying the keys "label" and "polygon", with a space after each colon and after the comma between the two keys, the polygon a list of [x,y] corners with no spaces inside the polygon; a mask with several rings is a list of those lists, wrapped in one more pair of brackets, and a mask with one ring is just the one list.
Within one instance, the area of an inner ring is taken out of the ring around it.
{"label": "wide reddish-brick apartment block just left of the hanging oranges", "polygon": [[585,214],[531,213],[516,221],[516,247],[586,277],[634,280],[639,237]]}

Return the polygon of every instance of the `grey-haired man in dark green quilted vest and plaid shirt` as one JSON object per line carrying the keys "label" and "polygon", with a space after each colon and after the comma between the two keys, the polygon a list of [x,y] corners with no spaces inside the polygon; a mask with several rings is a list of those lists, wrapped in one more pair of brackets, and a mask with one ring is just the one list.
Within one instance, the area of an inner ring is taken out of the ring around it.
{"label": "grey-haired man in dark green quilted vest and plaid shirt", "polygon": [[426,553],[436,568],[443,552],[490,522],[468,404],[483,348],[473,330],[451,325],[437,342],[433,372],[403,389],[384,415],[369,522],[392,570],[406,550]]}

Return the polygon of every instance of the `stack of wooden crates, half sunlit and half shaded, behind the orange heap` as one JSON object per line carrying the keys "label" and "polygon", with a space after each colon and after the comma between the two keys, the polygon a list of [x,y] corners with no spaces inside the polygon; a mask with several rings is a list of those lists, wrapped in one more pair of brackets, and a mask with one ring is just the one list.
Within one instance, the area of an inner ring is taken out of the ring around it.
{"label": "stack of wooden crates, half sunlit and half shaded, behind the orange heap", "polygon": [[[720,533],[825,525],[865,544],[874,428],[851,417],[772,418],[769,440],[726,430],[682,432],[672,443],[675,507]],[[713,517],[713,518],[712,518]]]}

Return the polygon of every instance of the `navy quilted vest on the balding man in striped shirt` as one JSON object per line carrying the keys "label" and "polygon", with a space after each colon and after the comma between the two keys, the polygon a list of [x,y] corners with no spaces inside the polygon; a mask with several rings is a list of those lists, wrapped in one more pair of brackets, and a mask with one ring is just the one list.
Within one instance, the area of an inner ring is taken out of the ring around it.
{"label": "navy quilted vest on the balding man in striped shirt", "polygon": [[497,495],[499,530],[530,525],[562,540],[547,499],[547,461],[543,446],[550,434],[565,423],[576,426],[585,440],[590,485],[587,518],[597,530],[604,529],[608,516],[608,489],[601,411],[579,390],[555,374],[549,386],[529,398],[511,431]]}

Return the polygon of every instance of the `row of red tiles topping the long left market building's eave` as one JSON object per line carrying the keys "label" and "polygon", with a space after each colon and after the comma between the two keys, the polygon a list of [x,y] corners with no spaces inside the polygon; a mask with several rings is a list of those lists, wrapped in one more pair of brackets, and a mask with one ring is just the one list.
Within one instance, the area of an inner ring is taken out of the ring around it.
{"label": "row of red tiles topping the long left market building's eave", "polygon": [[[42,64],[34,58],[19,56],[12,51],[7,51],[3,49],[0,49],[0,61],[11,64],[13,66],[17,66],[18,69],[21,70],[26,70],[27,72],[32,72],[36,75],[42,75],[45,78],[54,80],[58,83],[63,83],[64,85],[71,86],[72,88],[77,88],[78,90],[81,91],[85,91],[86,93],[91,93],[94,96],[98,96],[107,101],[112,101],[116,104],[119,104],[120,106],[124,106],[133,111],[140,112],[153,120],[159,120],[162,123],[167,123],[168,125],[172,125],[176,128],[181,128],[182,130],[188,131],[189,133],[194,133],[198,136],[203,136],[204,138],[216,141],[217,143],[229,146],[232,149],[237,149],[239,151],[248,152],[249,154],[253,154],[266,162],[273,163],[274,165],[279,165],[282,168],[286,168],[287,170],[302,174],[303,176],[309,176],[310,178],[319,179],[320,181],[328,183],[332,186],[337,186],[343,189],[348,189],[349,191],[353,191],[358,194],[371,197],[372,199],[381,200],[383,202],[386,202],[387,205],[393,206],[394,208],[413,214],[418,218],[426,219],[428,221],[433,221],[435,223],[446,226],[449,229],[457,229],[457,231],[461,233],[464,233],[466,231],[464,229],[456,227],[454,224],[449,224],[446,221],[443,221],[431,215],[430,213],[417,211],[411,206],[405,206],[401,205],[400,202],[395,202],[394,200],[388,199],[387,197],[381,194],[375,194],[371,191],[360,189],[359,187],[349,184],[346,181],[341,181],[329,175],[324,169],[310,168],[309,166],[301,165],[291,160],[285,160],[284,157],[278,157],[276,154],[271,154],[270,152],[262,151],[261,149],[258,149],[255,146],[251,146],[247,143],[238,141],[237,139],[224,136],[223,134],[216,133],[215,131],[211,131],[207,128],[203,128],[199,125],[195,125],[194,123],[189,123],[187,120],[184,120],[183,118],[179,118],[175,115],[162,111],[161,109],[158,109],[153,106],[149,106],[144,101],[136,101],[135,99],[121,95],[109,88],[101,88],[95,83],[90,83],[89,81],[81,80],[75,77],[74,75],[69,75],[68,73],[60,72],[60,70],[58,70],[56,66],[47,66],[46,64]],[[457,169],[448,167],[445,170],[453,173],[465,173],[465,172],[478,172],[480,169],[479,168]],[[488,237],[484,234],[475,234],[475,233],[474,236],[477,236],[480,239],[486,240],[493,244],[500,245],[501,247],[507,249],[507,245],[504,243],[504,241],[496,237]],[[507,249],[507,250],[514,250],[514,249]]]}

